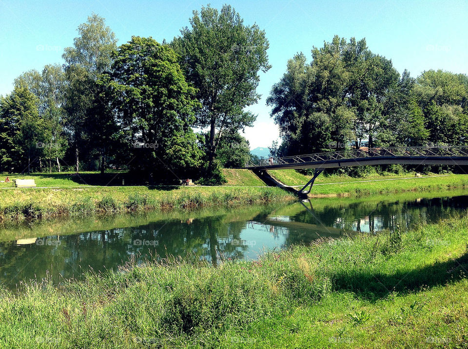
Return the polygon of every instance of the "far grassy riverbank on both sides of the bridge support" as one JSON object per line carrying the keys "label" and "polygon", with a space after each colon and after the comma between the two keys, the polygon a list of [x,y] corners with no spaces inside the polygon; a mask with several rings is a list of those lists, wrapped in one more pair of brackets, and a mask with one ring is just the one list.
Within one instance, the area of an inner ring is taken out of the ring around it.
{"label": "far grassy riverbank on both sides of the bridge support", "polygon": [[[239,172],[240,171],[240,172]],[[290,171],[290,170],[286,170]],[[86,174],[83,174],[85,176]],[[41,174],[31,175],[44,188],[0,187],[0,221],[48,219],[89,214],[114,214],[174,208],[241,206],[255,203],[291,202],[297,200],[282,189],[257,186],[249,170],[232,170],[232,183],[245,179],[251,186],[99,186],[77,184],[77,178]],[[97,181],[89,173],[88,181]],[[27,177],[27,176],[26,176]],[[258,177],[256,177],[258,181]],[[329,178],[330,179],[330,178]],[[436,191],[468,188],[468,175],[445,175],[424,178],[372,177],[349,179],[350,182],[316,183],[311,197],[363,197],[409,191]],[[341,178],[343,181],[343,178]],[[360,182],[358,182],[360,181]],[[94,183],[93,182],[93,183]],[[75,185],[70,185],[70,184]]]}

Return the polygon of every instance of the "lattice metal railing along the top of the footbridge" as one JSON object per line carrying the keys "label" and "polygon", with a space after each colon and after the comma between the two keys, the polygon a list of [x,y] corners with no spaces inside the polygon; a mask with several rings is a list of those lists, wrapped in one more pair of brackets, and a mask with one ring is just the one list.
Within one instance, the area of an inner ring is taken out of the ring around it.
{"label": "lattice metal railing along the top of the footbridge", "polygon": [[432,157],[432,156],[468,156],[468,146],[440,147],[375,147],[330,151],[326,153],[262,158],[250,161],[245,167],[265,167],[271,165],[287,165],[322,162],[330,160],[346,160],[370,157]]}

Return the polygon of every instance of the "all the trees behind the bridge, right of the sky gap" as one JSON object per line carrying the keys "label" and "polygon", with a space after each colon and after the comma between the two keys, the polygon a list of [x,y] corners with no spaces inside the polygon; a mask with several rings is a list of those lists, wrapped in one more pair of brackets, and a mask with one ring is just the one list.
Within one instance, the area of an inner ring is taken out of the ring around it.
{"label": "all the trees behind the bridge, right of the sky gap", "polygon": [[267,99],[279,155],[381,146],[466,145],[468,77],[429,70],[401,75],[366,40],[338,36],[300,53]]}

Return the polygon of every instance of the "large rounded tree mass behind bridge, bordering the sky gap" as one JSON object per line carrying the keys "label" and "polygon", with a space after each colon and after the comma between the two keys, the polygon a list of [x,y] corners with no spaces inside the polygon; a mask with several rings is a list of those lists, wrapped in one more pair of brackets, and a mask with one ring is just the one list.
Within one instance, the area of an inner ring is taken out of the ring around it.
{"label": "large rounded tree mass behind bridge, bordering the sky gap", "polygon": [[295,55],[267,99],[288,155],[356,147],[374,138],[396,113],[390,103],[399,74],[391,61],[375,55],[366,40],[333,37],[312,49],[312,62]]}

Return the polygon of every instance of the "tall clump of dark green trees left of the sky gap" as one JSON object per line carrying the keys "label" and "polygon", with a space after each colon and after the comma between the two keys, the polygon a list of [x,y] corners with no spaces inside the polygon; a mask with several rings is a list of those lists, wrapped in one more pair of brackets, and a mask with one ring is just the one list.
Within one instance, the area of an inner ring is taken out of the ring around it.
{"label": "tall clump of dark green trees left of the sky gap", "polygon": [[[235,10],[194,11],[172,42],[132,37],[117,47],[93,14],[62,55],[65,64],[21,74],[0,100],[0,172],[109,167],[145,181],[223,180],[250,159],[240,130],[255,115],[268,40]],[[201,129],[195,132],[194,129]]]}

